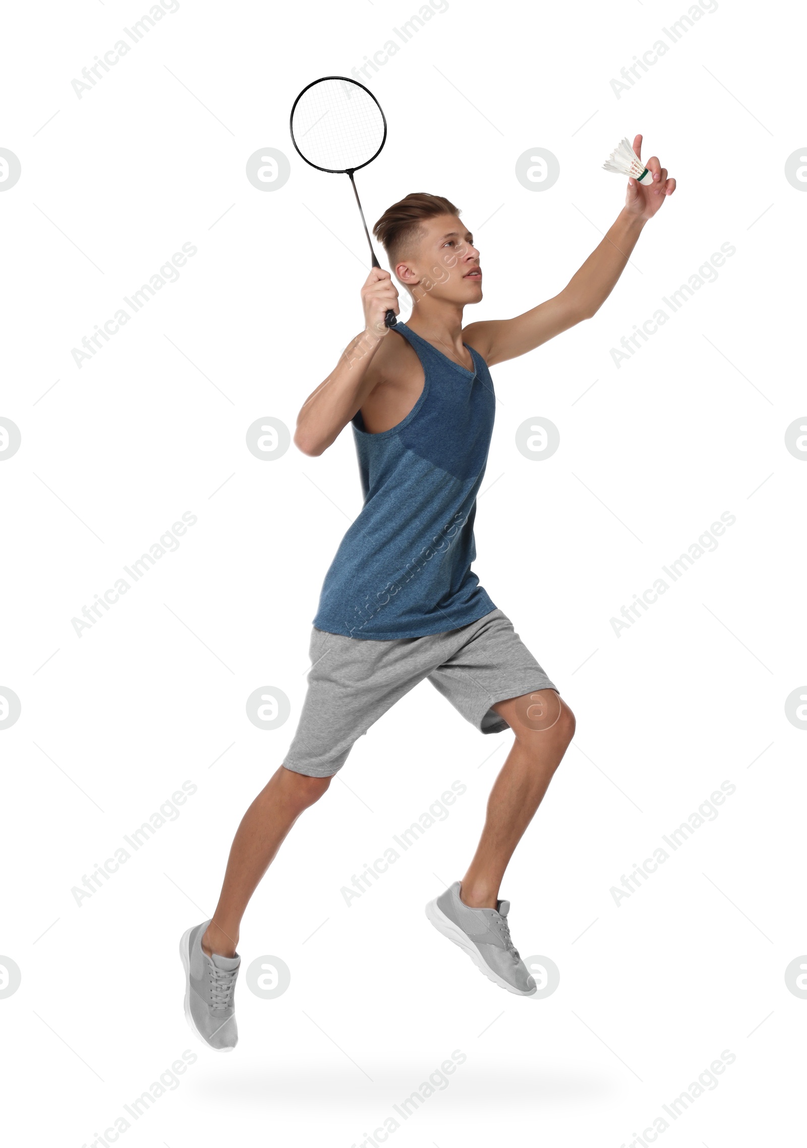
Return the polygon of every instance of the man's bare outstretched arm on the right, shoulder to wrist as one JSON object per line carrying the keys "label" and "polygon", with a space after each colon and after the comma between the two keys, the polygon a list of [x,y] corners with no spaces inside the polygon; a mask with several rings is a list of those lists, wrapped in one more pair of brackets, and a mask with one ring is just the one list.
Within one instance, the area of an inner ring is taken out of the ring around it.
{"label": "man's bare outstretched arm on the right, shoulder to wrist", "polygon": [[491,366],[526,355],[583,319],[590,319],[614,289],[644,223],[623,209],[560,294],[513,319],[472,323],[463,332],[464,341]]}

